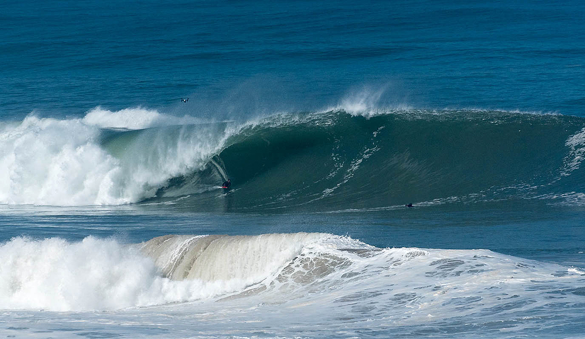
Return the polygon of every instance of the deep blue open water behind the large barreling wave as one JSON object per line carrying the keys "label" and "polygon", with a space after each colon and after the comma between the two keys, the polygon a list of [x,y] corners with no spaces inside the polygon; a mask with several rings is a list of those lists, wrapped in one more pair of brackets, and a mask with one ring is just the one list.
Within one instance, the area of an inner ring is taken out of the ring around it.
{"label": "deep blue open water behind the large barreling wave", "polygon": [[0,114],[312,110],[366,87],[386,89],[381,106],[583,115],[584,12],[578,1],[13,2],[0,17]]}

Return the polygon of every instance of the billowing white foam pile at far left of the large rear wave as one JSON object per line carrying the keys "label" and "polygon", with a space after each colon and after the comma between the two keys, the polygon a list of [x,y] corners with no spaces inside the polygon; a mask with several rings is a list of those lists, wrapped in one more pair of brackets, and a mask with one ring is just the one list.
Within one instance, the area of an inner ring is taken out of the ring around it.
{"label": "billowing white foam pile at far left of the large rear wave", "polygon": [[98,135],[79,119],[27,117],[5,128],[0,132],[0,203],[121,202],[111,192],[119,161],[97,145]]}

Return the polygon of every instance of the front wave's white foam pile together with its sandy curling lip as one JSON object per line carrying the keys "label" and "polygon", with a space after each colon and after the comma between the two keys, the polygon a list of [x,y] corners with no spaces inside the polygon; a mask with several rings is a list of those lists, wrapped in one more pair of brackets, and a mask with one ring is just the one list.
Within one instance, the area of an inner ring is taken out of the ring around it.
{"label": "front wave's white foam pile together with its sandy curling lip", "polygon": [[[208,237],[167,237],[162,242],[156,238],[144,244],[142,252],[141,246],[113,239],[14,238],[0,245],[0,305],[3,309],[122,309],[238,292],[276,275],[303,246],[323,237],[213,237],[183,280],[170,279],[161,263],[170,259],[180,267],[174,254],[181,252],[186,238]],[[191,250],[190,258],[197,252]]]}

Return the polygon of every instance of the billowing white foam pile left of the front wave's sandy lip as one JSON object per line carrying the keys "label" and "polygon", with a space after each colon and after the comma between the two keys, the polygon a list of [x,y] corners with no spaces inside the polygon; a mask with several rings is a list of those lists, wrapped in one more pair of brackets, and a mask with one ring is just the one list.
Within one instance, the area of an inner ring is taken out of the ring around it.
{"label": "billowing white foam pile left of the front wave's sandy lip", "polygon": [[173,300],[161,293],[168,282],[152,262],[112,240],[15,238],[0,246],[0,258],[5,309],[121,309]]}

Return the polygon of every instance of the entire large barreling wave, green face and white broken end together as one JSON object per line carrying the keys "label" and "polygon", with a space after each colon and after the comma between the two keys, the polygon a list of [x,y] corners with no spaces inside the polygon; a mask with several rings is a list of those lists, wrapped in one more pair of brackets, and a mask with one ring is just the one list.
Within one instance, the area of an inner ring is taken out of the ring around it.
{"label": "entire large barreling wave, green face and white broken end together", "polygon": [[[0,131],[0,203],[197,211],[583,204],[585,121],[478,109],[201,122],[147,109],[27,117]],[[218,189],[230,177],[228,194]],[[180,200],[177,199],[180,198]]]}

